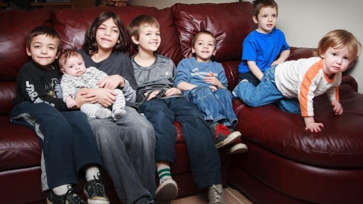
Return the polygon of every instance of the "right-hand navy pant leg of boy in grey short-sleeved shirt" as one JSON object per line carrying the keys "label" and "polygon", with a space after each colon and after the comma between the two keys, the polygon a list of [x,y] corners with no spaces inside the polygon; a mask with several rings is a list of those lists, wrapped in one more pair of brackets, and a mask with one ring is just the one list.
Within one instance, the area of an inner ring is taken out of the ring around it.
{"label": "right-hand navy pant leg of boy in grey short-sleeved shirt", "polygon": [[167,103],[181,123],[193,179],[197,188],[221,184],[221,161],[207,123],[196,106],[184,98],[170,98]]}

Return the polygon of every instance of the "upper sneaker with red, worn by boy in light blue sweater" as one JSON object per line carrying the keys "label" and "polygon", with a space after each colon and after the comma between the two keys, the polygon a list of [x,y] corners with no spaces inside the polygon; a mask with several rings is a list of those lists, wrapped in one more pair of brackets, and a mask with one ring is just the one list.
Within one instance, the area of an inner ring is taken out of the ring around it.
{"label": "upper sneaker with red, worn by boy in light blue sweater", "polygon": [[231,133],[226,126],[217,122],[211,123],[209,127],[212,130],[214,144],[217,149],[228,145],[241,137],[240,132],[235,131]]}

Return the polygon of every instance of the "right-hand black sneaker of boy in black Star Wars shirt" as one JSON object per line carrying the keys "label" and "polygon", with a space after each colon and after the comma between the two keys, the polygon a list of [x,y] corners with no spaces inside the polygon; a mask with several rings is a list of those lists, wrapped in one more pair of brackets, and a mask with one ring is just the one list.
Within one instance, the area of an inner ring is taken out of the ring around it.
{"label": "right-hand black sneaker of boy in black Star Wars shirt", "polygon": [[94,179],[91,181],[86,182],[84,193],[87,197],[88,204],[109,204],[110,201],[108,200],[104,186],[102,182],[102,177],[97,173],[98,179],[93,176]]}

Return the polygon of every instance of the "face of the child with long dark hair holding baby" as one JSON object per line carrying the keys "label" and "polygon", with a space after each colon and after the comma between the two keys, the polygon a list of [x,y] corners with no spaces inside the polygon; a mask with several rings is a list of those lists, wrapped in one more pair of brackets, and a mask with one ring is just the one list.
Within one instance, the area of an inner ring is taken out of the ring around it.
{"label": "face of the child with long dark hair holding baby", "polygon": [[112,18],[104,21],[96,30],[96,42],[98,50],[112,50],[119,40],[120,30]]}

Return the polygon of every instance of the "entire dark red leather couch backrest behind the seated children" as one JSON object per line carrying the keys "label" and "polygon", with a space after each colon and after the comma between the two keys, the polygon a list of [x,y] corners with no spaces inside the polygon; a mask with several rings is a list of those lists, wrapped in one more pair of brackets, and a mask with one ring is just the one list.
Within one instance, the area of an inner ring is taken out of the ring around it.
{"label": "entire dark red leather couch backrest behind the seated children", "polygon": [[11,110],[16,75],[29,60],[25,52],[27,33],[36,26],[53,26],[61,36],[63,51],[81,49],[87,29],[103,11],[118,14],[125,26],[137,15],[155,17],[162,37],[158,53],[171,58],[176,65],[182,58],[192,56],[193,35],[199,30],[211,31],[217,37],[217,54],[213,60],[225,68],[230,89],[237,83],[243,39],[255,28],[250,2],[177,3],[164,9],[130,5],[0,12],[0,116],[8,115]]}

